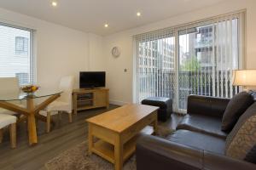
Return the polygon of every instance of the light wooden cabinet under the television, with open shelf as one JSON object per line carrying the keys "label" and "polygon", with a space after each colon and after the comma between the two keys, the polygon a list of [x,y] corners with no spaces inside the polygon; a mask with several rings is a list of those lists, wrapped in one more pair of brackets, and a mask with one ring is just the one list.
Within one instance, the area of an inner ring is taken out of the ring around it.
{"label": "light wooden cabinet under the television, with open shelf", "polygon": [[108,88],[90,88],[73,90],[73,110],[78,111],[109,106]]}

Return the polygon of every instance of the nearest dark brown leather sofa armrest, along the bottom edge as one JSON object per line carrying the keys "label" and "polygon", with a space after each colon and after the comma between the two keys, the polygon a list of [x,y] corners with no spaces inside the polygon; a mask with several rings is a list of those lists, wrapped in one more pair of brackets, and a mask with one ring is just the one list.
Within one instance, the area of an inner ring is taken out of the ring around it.
{"label": "nearest dark brown leather sofa armrest, along the bottom edge", "polygon": [[253,170],[256,167],[256,165],[247,161],[215,155],[205,150],[149,135],[138,140],[136,156],[137,170]]}

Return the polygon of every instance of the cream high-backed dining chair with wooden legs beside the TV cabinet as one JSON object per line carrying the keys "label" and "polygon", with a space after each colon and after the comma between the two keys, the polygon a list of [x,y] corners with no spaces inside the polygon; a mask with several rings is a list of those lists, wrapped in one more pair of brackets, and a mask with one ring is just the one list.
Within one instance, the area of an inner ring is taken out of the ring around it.
{"label": "cream high-backed dining chair with wooden legs beside the TV cabinet", "polygon": [[68,113],[69,122],[73,122],[72,118],[72,93],[73,93],[74,77],[61,77],[59,89],[62,91],[61,97],[49,104],[44,111],[39,111],[40,115],[46,116],[46,132],[50,131],[50,119],[52,115],[61,114],[61,112]]}

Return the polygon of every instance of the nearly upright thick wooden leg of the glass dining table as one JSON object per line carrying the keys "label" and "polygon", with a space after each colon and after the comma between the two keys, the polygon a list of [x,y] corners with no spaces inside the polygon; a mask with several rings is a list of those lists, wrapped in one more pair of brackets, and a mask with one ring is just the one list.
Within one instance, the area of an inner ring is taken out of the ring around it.
{"label": "nearly upright thick wooden leg of the glass dining table", "polygon": [[34,112],[34,103],[33,99],[26,99],[27,110],[30,111],[30,114],[27,116],[27,126],[28,126],[28,139],[29,144],[38,143],[38,134],[35,121],[35,112]]}

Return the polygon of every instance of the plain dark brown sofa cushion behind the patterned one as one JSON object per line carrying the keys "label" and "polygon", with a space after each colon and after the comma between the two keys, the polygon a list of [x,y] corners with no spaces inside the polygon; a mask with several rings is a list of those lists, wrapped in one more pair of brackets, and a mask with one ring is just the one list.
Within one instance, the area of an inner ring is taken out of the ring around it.
{"label": "plain dark brown sofa cushion behind the patterned one", "polygon": [[221,129],[230,132],[235,126],[239,117],[253,104],[253,96],[247,92],[236,94],[230,99],[224,112]]}

